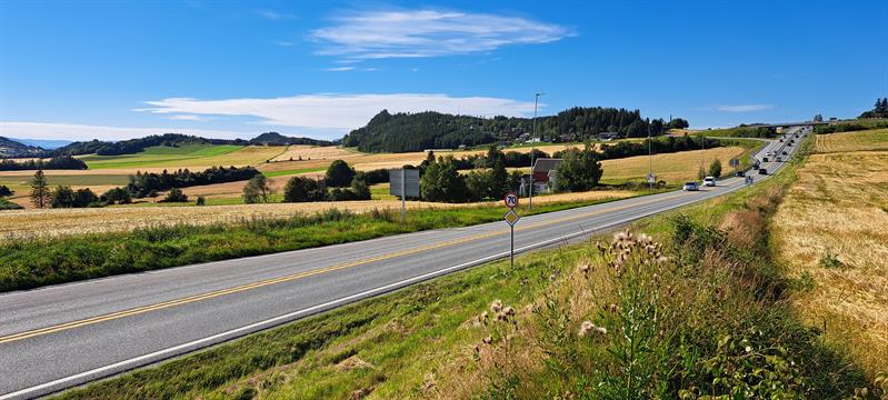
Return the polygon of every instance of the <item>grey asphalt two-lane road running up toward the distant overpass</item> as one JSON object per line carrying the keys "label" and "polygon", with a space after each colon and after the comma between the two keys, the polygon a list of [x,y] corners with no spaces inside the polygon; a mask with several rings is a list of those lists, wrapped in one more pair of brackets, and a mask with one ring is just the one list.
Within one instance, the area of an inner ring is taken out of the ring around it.
{"label": "grey asphalt two-lane road running up toward the distant overpass", "polygon": [[[761,153],[782,144],[771,142]],[[762,166],[774,172],[781,164]],[[516,249],[578,240],[742,187],[742,178],[729,178],[699,192],[522,218]],[[70,388],[503,258],[508,250],[508,226],[493,222],[2,294],[0,399]]]}

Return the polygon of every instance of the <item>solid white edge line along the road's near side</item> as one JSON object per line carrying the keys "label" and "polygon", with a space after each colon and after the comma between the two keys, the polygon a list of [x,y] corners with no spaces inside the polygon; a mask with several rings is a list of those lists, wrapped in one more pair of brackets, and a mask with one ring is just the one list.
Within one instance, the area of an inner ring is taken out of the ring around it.
{"label": "solid white edge line along the road's near side", "polygon": [[[737,187],[734,187],[734,188],[727,188],[727,190],[725,192],[721,192],[719,194],[706,196],[706,199],[698,199],[698,200],[708,200],[710,198],[722,196],[725,193],[729,193],[729,192],[732,192],[732,191],[741,189],[741,188],[745,188],[745,186],[741,184],[741,186],[737,186]],[[668,207],[668,208],[665,208],[665,209],[658,209],[658,210],[655,210],[655,211],[643,212],[643,213],[640,213],[638,216],[633,216],[633,217],[630,217],[630,218],[623,218],[623,219],[618,220],[618,221],[613,221],[613,222],[606,223],[603,226],[596,227],[596,229],[599,230],[599,231],[602,230],[602,229],[609,229],[609,228],[612,228],[615,226],[620,226],[620,224],[623,224],[626,222],[630,222],[630,221],[633,221],[633,220],[637,220],[637,219],[641,219],[641,218],[649,217],[649,216],[652,216],[652,214],[657,214],[657,213],[660,213],[660,212],[674,210],[676,208],[685,207],[685,206],[688,206],[688,204],[694,203],[694,202],[698,202],[698,201],[681,202],[681,203],[675,204],[674,207]],[[588,233],[589,233],[589,231],[582,230],[582,231],[575,232],[575,233],[571,233],[571,234],[566,234],[566,236],[562,236],[562,237],[559,237],[559,238],[549,239],[549,240],[545,240],[545,241],[537,242],[537,243],[533,243],[533,244],[525,246],[522,248],[516,249],[515,252],[519,253],[519,252],[525,252],[525,251],[528,251],[528,250],[533,250],[533,249],[537,249],[537,248],[541,248],[541,247],[546,247],[546,246],[549,246],[549,244],[557,243],[557,242],[562,241],[562,240],[570,240],[570,239],[573,239],[573,238],[577,238],[577,237],[581,237],[581,236],[585,236],[585,234],[588,234]],[[124,372],[124,371],[132,370],[132,369],[136,369],[136,368],[139,368],[139,367],[143,367],[143,366],[147,366],[147,364],[150,364],[150,363],[153,363],[153,362],[162,361],[162,360],[176,357],[176,356],[181,356],[181,354],[184,354],[187,352],[191,352],[191,351],[194,351],[194,350],[198,350],[198,349],[207,348],[207,347],[210,347],[210,346],[213,346],[213,344],[218,344],[218,343],[221,343],[221,342],[225,342],[225,341],[228,341],[228,340],[232,340],[232,339],[236,339],[236,338],[239,338],[239,337],[243,337],[243,336],[247,336],[247,334],[250,334],[250,333],[255,333],[255,332],[258,332],[258,331],[261,331],[261,330],[273,328],[273,327],[280,326],[282,323],[291,322],[291,321],[295,321],[297,319],[305,318],[305,317],[311,316],[311,314],[317,313],[317,312],[321,312],[321,311],[326,311],[326,310],[332,309],[335,307],[345,306],[345,304],[348,304],[348,303],[357,301],[357,300],[362,300],[362,299],[370,298],[370,297],[373,297],[373,296],[382,294],[382,293],[386,293],[386,292],[389,292],[389,291],[392,291],[392,290],[396,290],[396,289],[400,289],[400,288],[413,284],[413,283],[418,283],[418,282],[421,282],[421,281],[425,281],[425,280],[437,278],[437,277],[447,274],[449,272],[458,271],[458,270],[466,269],[466,268],[469,268],[469,267],[473,267],[473,266],[477,266],[477,264],[480,264],[480,263],[485,263],[485,262],[493,261],[493,260],[497,260],[497,259],[506,258],[508,256],[509,256],[509,252],[508,251],[503,251],[503,252],[500,252],[500,253],[497,253],[497,254],[483,257],[483,258],[480,258],[480,259],[477,259],[477,260],[472,260],[472,261],[468,261],[468,262],[465,262],[465,263],[461,263],[461,264],[448,267],[448,268],[440,269],[440,270],[432,271],[432,272],[427,272],[427,273],[423,273],[421,276],[417,276],[417,277],[413,277],[413,278],[408,278],[408,279],[405,279],[405,280],[400,280],[398,282],[393,282],[393,283],[389,283],[389,284],[386,284],[386,286],[382,286],[382,287],[378,287],[378,288],[375,288],[375,289],[366,290],[366,291],[362,291],[360,293],[355,293],[355,294],[347,296],[347,297],[343,297],[343,298],[339,298],[339,299],[336,299],[336,300],[331,300],[331,301],[328,301],[328,302],[325,302],[325,303],[320,303],[320,304],[317,304],[317,306],[305,308],[305,309],[301,309],[299,311],[293,311],[293,312],[286,313],[286,314],[279,316],[279,317],[267,319],[265,321],[259,321],[259,322],[251,323],[251,324],[248,324],[248,326],[245,326],[245,327],[240,327],[240,328],[236,328],[236,329],[232,329],[232,330],[229,330],[229,331],[226,331],[226,332],[217,333],[217,334],[213,334],[213,336],[210,336],[210,337],[207,337],[207,338],[193,340],[193,341],[190,341],[188,343],[182,343],[182,344],[174,346],[174,347],[171,347],[171,348],[167,348],[167,349],[163,349],[163,350],[158,350],[158,351],[144,354],[144,356],[139,356],[139,357],[136,357],[136,358],[131,358],[129,360],[119,361],[119,362],[116,362],[116,363],[112,363],[112,364],[109,364],[109,366],[96,368],[96,369],[92,369],[92,370],[89,370],[89,371],[86,371],[86,372],[80,372],[80,373],[77,373],[77,374],[72,374],[70,377],[57,379],[54,381],[41,383],[41,384],[38,384],[38,386],[33,386],[33,387],[30,387],[30,388],[26,388],[26,389],[21,389],[21,390],[14,391],[14,392],[2,394],[2,396],[0,396],[0,400],[33,398],[33,397],[38,397],[38,396],[46,396],[46,394],[49,394],[49,393],[52,393],[52,392],[56,392],[56,391],[59,391],[59,390],[62,390],[62,389],[67,389],[67,388],[70,388],[70,387],[77,386],[77,384],[86,383],[86,382],[94,380],[94,379],[106,378],[106,377],[109,377],[109,376],[114,374],[114,373]],[[73,383],[73,384],[69,384],[69,383]]]}

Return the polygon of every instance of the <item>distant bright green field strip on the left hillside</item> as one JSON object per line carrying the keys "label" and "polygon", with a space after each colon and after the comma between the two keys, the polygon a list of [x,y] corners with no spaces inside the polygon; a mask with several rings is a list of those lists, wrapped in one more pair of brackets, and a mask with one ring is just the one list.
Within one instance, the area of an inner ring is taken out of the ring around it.
{"label": "distant bright green field strip on the left hillside", "polygon": [[[86,156],[80,158],[90,169],[164,167],[164,164],[209,157],[220,157],[242,149],[233,144],[184,144],[180,147],[158,146],[136,154]],[[171,167],[172,168],[172,167]]]}

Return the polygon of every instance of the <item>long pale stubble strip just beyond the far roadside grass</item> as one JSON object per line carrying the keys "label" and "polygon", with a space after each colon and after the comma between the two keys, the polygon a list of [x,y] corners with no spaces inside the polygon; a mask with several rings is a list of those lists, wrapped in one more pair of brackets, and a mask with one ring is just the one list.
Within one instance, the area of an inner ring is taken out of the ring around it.
{"label": "long pale stubble strip just beyond the far roadside grass", "polygon": [[[591,201],[623,199],[637,194],[628,190],[559,193],[536,197],[535,203],[567,201]],[[408,201],[415,208],[458,208],[487,203],[448,204]],[[489,204],[499,206],[496,201]],[[140,227],[170,226],[178,223],[209,224],[238,222],[252,218],[287,218],[297,213],[310,214],[329,209],[348,210],[356,213],[373,209],[400,209],[397,200],[367,200],[309,203],[233,204],[206,207],[146,206],[111,207],[101,209],[48,209],[12,210],[0,213],[0,240],[31,237],[57,237],[66,234],[127,231]]]}

